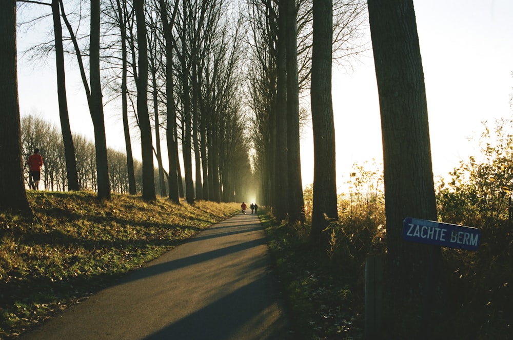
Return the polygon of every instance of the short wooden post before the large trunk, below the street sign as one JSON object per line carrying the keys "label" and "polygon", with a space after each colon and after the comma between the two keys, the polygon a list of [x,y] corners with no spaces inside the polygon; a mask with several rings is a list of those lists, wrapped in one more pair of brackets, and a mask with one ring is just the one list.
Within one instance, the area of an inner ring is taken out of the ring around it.
{"label": "short wooden post before the large trunk, below the street sign", "polygon": [[365,338],[379,339],[382,329],[385,255],[367,255],[365,261]]}

